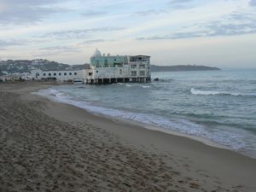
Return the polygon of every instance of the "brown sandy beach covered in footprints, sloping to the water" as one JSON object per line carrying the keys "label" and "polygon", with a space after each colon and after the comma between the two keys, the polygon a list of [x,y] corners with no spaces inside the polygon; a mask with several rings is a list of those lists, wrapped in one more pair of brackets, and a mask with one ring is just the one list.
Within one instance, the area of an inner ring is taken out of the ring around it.
{"label": "brown sandy beach covered in footprints, sloping to the water", "polygon": [[0,191],[256,191],[256,160],[0,84]]}

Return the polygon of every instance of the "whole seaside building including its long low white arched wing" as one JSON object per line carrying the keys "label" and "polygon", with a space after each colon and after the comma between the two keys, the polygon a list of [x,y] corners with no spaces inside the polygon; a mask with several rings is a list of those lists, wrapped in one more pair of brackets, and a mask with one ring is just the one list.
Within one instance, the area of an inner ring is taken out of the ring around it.
{"label": "whole seaside building including its long low white arched wing", "polygon": [[96,49],[90,57],[90,68],[72,71],[32,70],[32,79],[80,81],[87,84],[150,82],[150,56],[105,55]]}

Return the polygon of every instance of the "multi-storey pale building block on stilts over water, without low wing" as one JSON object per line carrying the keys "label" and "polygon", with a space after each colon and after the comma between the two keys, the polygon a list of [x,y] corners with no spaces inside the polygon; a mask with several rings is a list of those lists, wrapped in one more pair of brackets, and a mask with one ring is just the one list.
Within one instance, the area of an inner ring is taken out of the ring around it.
{"label": "multi-storey pale building block on stilts over water, without low wing", "polygon": [[90,57],[86,83],[150,82],[150,56],[105,55],[96,49]]}

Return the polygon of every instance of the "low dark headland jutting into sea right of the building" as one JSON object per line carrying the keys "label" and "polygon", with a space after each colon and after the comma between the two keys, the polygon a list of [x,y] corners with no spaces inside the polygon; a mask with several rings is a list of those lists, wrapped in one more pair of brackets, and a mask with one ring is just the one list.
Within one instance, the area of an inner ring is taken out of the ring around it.
{"label": "low dark headland jutting into sea right of the building", "polygon": [[178,71],[209,71],[220,70],[218,67],[180,65],[180,66],[156,66],[151,65],[152,72],[178,72]]}

